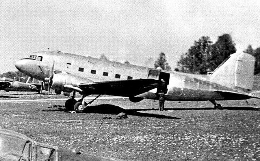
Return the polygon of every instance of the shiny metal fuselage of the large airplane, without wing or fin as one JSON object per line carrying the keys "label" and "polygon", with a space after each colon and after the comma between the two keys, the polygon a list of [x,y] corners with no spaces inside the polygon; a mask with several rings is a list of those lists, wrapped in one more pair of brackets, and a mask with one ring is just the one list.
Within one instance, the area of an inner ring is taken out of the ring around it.
{"label": "shiny metal fuselage of the large airplane, without wing or fin", "polygon": [[[237,92],[220,84],[209,81],[207,75],[186,74],[180,72],[156,70],[131,64],[121,64],[108,60],[86,57],[62,52],[35,52],[37,58],[25,58],[16,62],[16,68],[21,72],[39,80],[51,75],[51,71],[66,72],[90,82],[117,81],[127,79],[159,79],[166,81],[166,100],[204,101],[204,100],[238,100],[249,97],[218,93],[216,90]],[[33,57],[30,56],[30,57]],[[53,69],[52,69],[53,68]],[[77,83],[86,83],[77,82]],[[241,92],[241,91],[239,91]],[[158,99],[157,89],[142,93],[135,97]]]}

